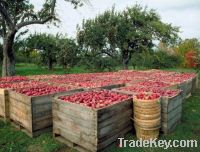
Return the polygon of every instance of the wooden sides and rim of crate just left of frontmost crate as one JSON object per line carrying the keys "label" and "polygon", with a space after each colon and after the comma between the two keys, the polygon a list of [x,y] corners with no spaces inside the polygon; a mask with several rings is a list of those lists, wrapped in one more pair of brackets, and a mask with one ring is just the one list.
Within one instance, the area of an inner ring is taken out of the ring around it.
{"label": "wooden sides and rim of crate just left of frontmost crate", "polygon": [[[71,90],[57,94],[78,92]],[[30,137],[52,130],[52,95],[30,97],[15,91],[9,91],[10,122]]]}

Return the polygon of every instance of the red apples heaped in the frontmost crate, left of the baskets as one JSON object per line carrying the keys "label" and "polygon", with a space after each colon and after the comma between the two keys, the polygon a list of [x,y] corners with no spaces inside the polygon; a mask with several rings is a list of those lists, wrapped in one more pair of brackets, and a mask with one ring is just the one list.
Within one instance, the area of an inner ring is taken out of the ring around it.
{"label": "red apples heaped in the frontmost crate, left of the baskets", "polygon": [[130,96],[108,90],[100,90],[81,92],[70,96],[62,96],[59,97],[59,99],[64,102],[76,103],[98,109],[130,99]]}

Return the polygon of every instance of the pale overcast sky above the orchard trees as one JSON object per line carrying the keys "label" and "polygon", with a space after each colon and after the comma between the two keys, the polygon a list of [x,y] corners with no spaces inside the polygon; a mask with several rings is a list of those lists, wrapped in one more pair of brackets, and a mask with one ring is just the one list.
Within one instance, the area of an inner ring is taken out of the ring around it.
{"label": "pale overcast sky above the orchard trees", "polygon": [[[44,0],[30,0],[40,9]],[[73,9],[70,3],[57,0],[57,12],[61,19],[60,27],[44,25],[29,26],[31,33],[47,32],[62,33],[69,37],[76,36],[76,25],[81,24],[83,19],[94,18],[97,14],[104,12],[115,5],[117,10],[123,10],[135,3],[148,6],[157,10],[163,22],[172,23],[181,29],[180,36],[185,38],[200,38],[200,0],[90,0],[91,4]]]}

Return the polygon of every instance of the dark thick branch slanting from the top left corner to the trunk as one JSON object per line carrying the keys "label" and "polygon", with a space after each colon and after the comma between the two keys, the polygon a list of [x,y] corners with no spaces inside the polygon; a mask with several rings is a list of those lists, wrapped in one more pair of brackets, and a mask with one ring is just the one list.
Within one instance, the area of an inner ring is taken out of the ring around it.
{"label": "dark thick branch slanting from the top left corner to the trunk", "polygon": [[0,1],[0,14],[1,16],[4,18],[4,20],[6,21],[6,23],[8,24],[9,28],[13,28],[14,24],[10,18],[10,16],[8,15],[8,12],[6,11],[6,9],[3,7],[3,4],[5,3],[4,1]]}

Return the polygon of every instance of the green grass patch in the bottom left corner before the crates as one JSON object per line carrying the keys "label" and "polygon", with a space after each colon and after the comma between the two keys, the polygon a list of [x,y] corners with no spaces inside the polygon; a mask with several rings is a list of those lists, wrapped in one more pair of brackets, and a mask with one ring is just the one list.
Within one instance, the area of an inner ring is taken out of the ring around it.
{"label": "green grass patch in the bottom left corner before the crates", "polygon": [[31,139],[25,133],[0,121],[0,152],[54,152],[63,146],[50,133]]}

